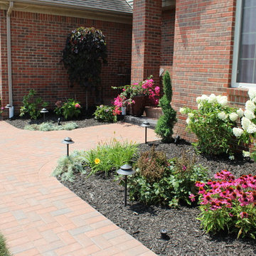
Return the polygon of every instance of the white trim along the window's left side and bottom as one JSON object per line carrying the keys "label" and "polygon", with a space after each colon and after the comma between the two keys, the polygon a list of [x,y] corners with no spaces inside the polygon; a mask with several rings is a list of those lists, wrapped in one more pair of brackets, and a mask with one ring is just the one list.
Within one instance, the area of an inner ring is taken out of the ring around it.
{"label": "white trim along the window's left side and bottom", "polygon": [[236,82],[238,76],[238,57],[240,47],[240,35],[241,35],[241,23],[242,23],[242,0],[237,1],[235,9],[235,38],[234,38],[234,50],[233,50],[233,67],[231,87],[256,87],[255,83]]}

